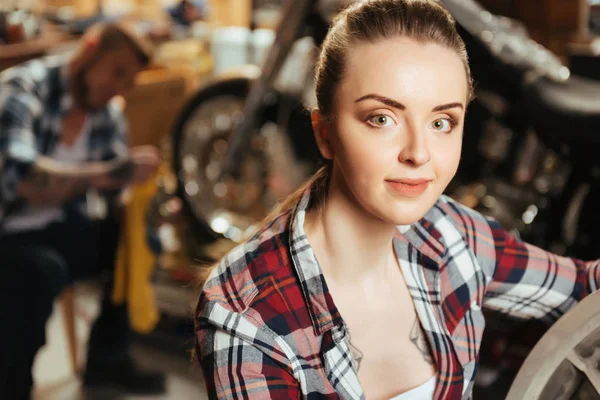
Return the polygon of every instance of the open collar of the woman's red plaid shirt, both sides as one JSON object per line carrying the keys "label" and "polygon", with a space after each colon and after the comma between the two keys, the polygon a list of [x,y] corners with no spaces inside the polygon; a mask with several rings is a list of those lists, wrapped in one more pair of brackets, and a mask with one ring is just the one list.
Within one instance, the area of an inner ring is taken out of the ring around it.
{"label": "open collar of the woman's red plaid shirt, both sides", "polygon": [[[292,262],[298,277],[304,300],[308,305],[313,328],[317,335],[323,335],[334,326],[342,323],[341,315],[333,302],[323,276],[323,271],[304,231],[306,211],[310,201],[311,188],[307,188],[290,218],[289,247]],[[436,221],[445,215],[436,205],[412,225],[398,226],[395,241],[407,241],[418,252],[440,265],[446,247],[436,228]]]}

